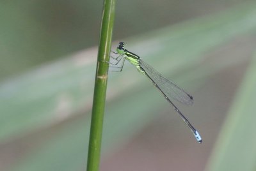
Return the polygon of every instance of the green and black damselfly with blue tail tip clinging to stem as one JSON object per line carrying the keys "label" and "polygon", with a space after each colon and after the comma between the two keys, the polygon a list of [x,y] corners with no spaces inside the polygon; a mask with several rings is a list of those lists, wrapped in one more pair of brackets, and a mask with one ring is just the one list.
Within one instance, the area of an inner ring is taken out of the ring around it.
{"label": "green and black damselfly with blue tail tip clinging to stem", "polygon": [[[119,54],[118,57],[112,57],[116,61],[116,63],[110,63],[115,65],[113,67],[118,68],[118,71],[122,71],[124,66],[124,61],[127,60],[131,64],[133,64],[140,73],[146,75],[152,83],[159,89],[159,91],[163,94],[164,98],[172,105],[175,111],[182,117],[183,121],[188,125],[193,135],[195,136],[197,142],[202,143],[202,138],[200,137],[198,131],[189,123],[188,119],[180,112],[180,110],[173,104],[170,99],[174,99],[179,101],[180,103],[184,103],[185,105],[193,105],[193,97],[186,93],[184,89],[180,88],[178,85],[174,84],[170,80],[164,78],[159,72],[154,70],[151,66],[145,63],[139,56],[136,54],[129,52],[129,50],[125,49],[125,43],[120,42],[118,47],[116,48],[115,54]],[[119,64],[119,66],[118,66]]]}

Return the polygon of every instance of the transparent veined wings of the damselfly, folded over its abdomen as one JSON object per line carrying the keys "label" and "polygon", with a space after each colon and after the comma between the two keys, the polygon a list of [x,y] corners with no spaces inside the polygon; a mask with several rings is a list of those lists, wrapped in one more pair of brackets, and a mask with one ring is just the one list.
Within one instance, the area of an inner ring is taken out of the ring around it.
{"label": "transparent veined wings of the damselfly, folded over its abdomen", "polygon": [[186,93],[184,89],[174,84],[170,80],[164,78],[159,72],[154,70],[150,65],[140,59],[140,66],[147,72],[148,76],[156,82],[163,93],[174,100],[184,103],[185,105],[193,105],[193,97]]}

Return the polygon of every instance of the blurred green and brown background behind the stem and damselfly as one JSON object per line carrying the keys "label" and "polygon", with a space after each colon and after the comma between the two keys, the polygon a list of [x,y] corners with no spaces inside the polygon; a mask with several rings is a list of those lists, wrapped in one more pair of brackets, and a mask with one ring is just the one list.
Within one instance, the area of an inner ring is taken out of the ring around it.
{"label": "blurred green and brown background behind the stem and damselfly", "polygon": [[[102,1],[0,2],[0,170],[85,170]],[[101,170],[256,170],[256,2],[117,1],[118,41],[188,90],[189,129],[109,73]]]}

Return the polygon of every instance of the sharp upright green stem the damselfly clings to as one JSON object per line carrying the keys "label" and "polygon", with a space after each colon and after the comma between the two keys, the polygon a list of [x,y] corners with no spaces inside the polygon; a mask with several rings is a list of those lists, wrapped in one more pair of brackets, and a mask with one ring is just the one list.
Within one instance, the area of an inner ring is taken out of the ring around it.
{"label": "sharp upright green stem the damselfly clings to", "polygon": [[88,149],[87,171],[98,171],[100,164],[100,146],[102,138],[102,125],[108,80],[109,52],[115,17],[115,0],[104,0],[102,23],[100,30],[100,43],[95,76],[95,87],[92,107],[92,121],[90,142]]}

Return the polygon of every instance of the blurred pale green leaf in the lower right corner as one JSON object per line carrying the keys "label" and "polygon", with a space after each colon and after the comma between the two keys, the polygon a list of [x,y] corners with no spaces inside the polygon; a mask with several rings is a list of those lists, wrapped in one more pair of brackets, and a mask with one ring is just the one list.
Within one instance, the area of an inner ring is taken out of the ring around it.
{"label": "blurred pale green leaf in the lower right corner", "polygon": [[207,170],[255,170],[256,55],[228,112]]}

